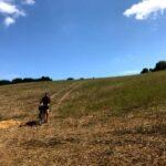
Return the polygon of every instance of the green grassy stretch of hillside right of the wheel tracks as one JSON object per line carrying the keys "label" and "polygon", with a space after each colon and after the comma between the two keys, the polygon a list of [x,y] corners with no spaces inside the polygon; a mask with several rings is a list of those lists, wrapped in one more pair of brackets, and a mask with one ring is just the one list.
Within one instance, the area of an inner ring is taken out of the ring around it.
{"label": "green grassy stretch of hillside right of the wheel tracks", "polygon": [[73,92],[61,107],[64,116],[82,116],[107,111],[122,115],[138,110],[166,106],[166,72],[91,80]]}

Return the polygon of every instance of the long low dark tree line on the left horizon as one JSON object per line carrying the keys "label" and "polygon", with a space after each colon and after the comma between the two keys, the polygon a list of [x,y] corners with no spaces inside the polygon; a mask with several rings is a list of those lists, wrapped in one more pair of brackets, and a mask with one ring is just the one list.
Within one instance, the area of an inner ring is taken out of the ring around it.
{"label": "long low dark tree line on the left horizon", "polygon": [[42,76],[39,79],[32,79],[32,77],[17,77],[13,79],[12,81],[9,80],[0,80],[0,85],[9,85],[9,84],[18,84],[18,83],[30,83],[30,82],[42,82],[42,81],[52,81],[51,77],[49,76]]}

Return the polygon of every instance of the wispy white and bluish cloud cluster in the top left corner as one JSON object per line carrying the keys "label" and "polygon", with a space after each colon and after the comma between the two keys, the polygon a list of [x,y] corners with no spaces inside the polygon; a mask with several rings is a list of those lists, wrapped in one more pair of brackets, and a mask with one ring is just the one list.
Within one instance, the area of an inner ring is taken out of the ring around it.
{"label": "wispy white and bluish cloud cluster in the top left corner", "polygon": [[3,17],[3,24],[9,27],[15,23],[18,18],[25,17],[22,4],[32,6],[34,3],[34,0],[0,0],[0,15]]}

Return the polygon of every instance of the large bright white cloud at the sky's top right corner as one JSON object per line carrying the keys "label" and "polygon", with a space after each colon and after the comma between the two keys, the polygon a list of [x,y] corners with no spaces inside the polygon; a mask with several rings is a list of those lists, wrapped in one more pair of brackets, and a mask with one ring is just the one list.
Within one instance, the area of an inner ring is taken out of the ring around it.
{"label": "large bright white cloud at the sky's top right corner", "polygon": [[142,0],[124,12],[124,15],[134,15],[136,20],[145,20],[151,15],[157,17],[166,10],[166,0]]}

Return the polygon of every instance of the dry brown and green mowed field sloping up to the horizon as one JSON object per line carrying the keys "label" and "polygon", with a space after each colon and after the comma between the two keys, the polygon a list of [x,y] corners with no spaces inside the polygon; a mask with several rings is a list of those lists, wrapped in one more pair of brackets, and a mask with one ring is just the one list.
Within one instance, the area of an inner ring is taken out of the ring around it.
{"label": "dry brown and green mowed field sloping up to the horizon", "polygon": [[[50,122],[38,120],[49,91]],[[166,165],[166,72],[0,86],[0,166]]]}

